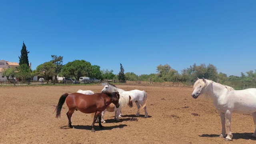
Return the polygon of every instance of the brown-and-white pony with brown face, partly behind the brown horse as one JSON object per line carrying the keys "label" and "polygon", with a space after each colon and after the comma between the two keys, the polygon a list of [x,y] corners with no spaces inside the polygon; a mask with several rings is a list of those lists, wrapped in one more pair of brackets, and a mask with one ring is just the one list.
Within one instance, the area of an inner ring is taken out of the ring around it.
{"label": "brown-and-white pony with brown face, partly behind the brown horse", "polygon": [[[110,104],[101,114],[101,122],[103,122],[104,124],[106,123],[106,121],[104,120],[104,114],[106,111],[108,112],[115,112],[115,116],[114,116],[114,120],[119,121],[119,117],[120,117],[120,112],[121,112],[121,108],[123,108],[124,106],[128,105],[130,108],[133,107],[132,104],[132,97],[129,96],[128,99],[125,96],[121,96],[119,98],[119,107],[116,108],[116,106],[114,104]],[[92,115],[94,116],[94,115]],[[97,119],[98,120],[98,119]]]}

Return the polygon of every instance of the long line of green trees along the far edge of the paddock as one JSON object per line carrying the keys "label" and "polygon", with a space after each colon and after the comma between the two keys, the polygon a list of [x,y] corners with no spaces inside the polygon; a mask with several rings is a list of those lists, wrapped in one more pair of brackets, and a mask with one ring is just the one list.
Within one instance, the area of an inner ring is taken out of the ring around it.
{"label": "long line of green trees along the far edge of the paddock", "polygon": [[[113,74],[113,70],[100,70],[100,66],[92,65],[86,60],[74,60],[63,64],[63,56],[51,55],[52,60],[44,62],[36,67],[36,70],[30,70],[28,64],[28,51],[23,42],[20,66],[18,68],[8,68],[4,71],[4,76],[17,77],[20,80],[28,80],[34,76],[44,76],[46,80],[50,77],[57,75],[64,78],[75,78],[79,80],[80,77],[91,77],[101,80],[116,80],[125,82],[130,81],[152,81],[152,82],[182,82],[193,84],[197,78],[206,78],[219,82],[225,85],[234,85],[237,83],[255,84],[256,70],[250,70],[246,73],[241,72],[241,76],[227,76],[222,72],[218,72],[216,66],[212,64],[193,64],[188,68],[184,68],[179,73],[174,70],[170,65],[158,65],[155,74],[142,74],[140,76],[133,72],[124,73],[124,68],[120,64],[120,72]],[[8,79],[9,80],[9,79]]]}

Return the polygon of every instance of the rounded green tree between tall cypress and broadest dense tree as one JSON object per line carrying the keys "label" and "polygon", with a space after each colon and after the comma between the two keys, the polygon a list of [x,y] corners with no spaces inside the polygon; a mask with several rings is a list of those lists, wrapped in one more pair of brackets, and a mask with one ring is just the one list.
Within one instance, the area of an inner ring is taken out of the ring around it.
{"label": "rounded green tree between tall cypress and broadest dense tree", "polygon": [[45,80],[49,80],[49,77],[55,76],[56,65],[52,62],[45,62],[36,67],[36,74],[44,76]]}

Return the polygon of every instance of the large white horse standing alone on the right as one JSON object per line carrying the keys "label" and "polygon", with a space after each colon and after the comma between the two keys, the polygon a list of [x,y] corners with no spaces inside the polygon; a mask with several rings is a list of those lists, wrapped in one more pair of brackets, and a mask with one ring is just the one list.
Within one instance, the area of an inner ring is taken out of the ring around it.
{"label": "large white horse standing alone on the right", "polygon": [[[201,94],[206,94],[212,98],[213,104],[220,114],[222,124],[220,138],[225,138],[224,140],[232,140],[233,135],[230,130],[232,112],[252,114],[254,124],[256,125],[256,88],[234,90],[230,86],[224,86],[213,82],[212,80],[202,78],[194,83],[192,97],[196,99]],[[225,135],[225,123],[227,127],[227,135]],[[252,134],[252,137],[256,138],[256,129],[254,134]]]}

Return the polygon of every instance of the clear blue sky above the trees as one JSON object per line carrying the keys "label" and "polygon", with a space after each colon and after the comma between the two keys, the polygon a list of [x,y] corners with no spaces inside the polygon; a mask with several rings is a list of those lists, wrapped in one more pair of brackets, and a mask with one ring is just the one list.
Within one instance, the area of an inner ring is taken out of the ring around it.
{"label": "clear blue sky above the trees", "polygon": [[196,63],[256,69],[256,0],[0,0],[0,59],[32,70],[51,55],[137,75]]}

